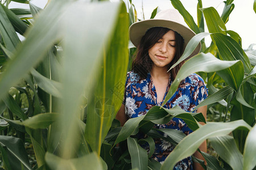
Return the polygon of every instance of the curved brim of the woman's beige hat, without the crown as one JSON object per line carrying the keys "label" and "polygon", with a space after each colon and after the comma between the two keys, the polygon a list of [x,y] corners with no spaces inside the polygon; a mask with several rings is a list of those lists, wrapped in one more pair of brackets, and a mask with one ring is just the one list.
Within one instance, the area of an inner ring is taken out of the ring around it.
{"label": "curved brim of the woman's beige hat, without the crown", "polygon": [[[187,46],[188,41],[191,40],[192,37],[196,35],[196,33],[193,32],[190,28],[185,27],[182,24],[172,22],[170,20],[164,20],[164,19],[148,19],[148,20],[142,20],[140,22],[133,23],[130,26],[129,37],[131,42],[133,42],[133,44],[136,47],[138,47],[146,31],[152,27],[165,27],[179,33],[184,39],[184,49]],[[200,49],[201,49],[201,43],[197,45],[196,49],[188,58],[191,58],[192,56],[195,56],[196,54],[198,54],[200,52]]]}

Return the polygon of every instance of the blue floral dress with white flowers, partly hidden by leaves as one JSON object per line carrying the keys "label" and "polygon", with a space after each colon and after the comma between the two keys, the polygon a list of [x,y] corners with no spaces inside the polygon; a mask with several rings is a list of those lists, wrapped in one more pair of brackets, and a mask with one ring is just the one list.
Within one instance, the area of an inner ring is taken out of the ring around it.
{"label": "blue floral dress with white flowers, partly hidden by leaves", "polygon": [[[171,77],[164,94],[164,99],[172,84]],[[204,80],[197,74],[191,74],[185,78],[175,94],[164,105],[164,108],[170,109],[175,105],[179,105],[186,112],[191,112],[201,101],[208,96],[207,87]],[[157,94],[154,83],[152,82],[150,73],[146,79],[140,80],[139,75],[133,71],[127,73],[125,86],[125,96],[123,104],[125,105],[125,113],[129,118],[139,117],[148,112],[155,105],[162,105],[163,101],[156,102]],[[183,131],[186,135],[192,133],[185,122],[181,118],[173,118],[170,122],[164,125],[155,125],[154,128],[169,128]],[[165,135],[165,134],[164,134]],[[155,151],[152,158],[160,163],[163,163],[174,146],[164,139],[158,138],[155,141]],[[191,156],[181,160],[176,164],[174,169],[193,169]]]}

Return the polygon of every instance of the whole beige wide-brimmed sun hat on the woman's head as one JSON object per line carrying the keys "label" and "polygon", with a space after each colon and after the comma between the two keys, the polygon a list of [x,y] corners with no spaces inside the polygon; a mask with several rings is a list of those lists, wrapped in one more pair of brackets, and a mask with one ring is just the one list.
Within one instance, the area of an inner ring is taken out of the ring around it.
{"label": "whole beige wide-brimmed sun hat on the woman's head", "polygon": [[[187,24],[184,22],[183,16],[176,9],[162,10],[155,15],[154,19],[142,20],[140,22],[133,23],[129,28],[129,36],[131,42],[138,47],[139,42],[146,33],[146,31],[152,27],[165,27],[172,29],[179,33],[184,39],[184,49],[188,44],[188,41],[196,35]],[[201,44],[199,44],[190,57],[195,56],[200,52]]]}

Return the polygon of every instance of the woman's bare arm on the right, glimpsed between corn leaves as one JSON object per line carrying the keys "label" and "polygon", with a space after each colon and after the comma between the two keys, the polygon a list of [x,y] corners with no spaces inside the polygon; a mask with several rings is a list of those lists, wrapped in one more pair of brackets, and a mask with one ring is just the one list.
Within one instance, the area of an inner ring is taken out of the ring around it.
{"label": "woman's bare arm on the right, glimpsed between corn leaves", "polygon": [[[206,120],[206,118],[207,118],[207,105],[198,108],[198,109],[197,109],[197,113],[202,113],[203,116],[204,116],[204,118],[205,118],[205,120]],[[201,125],[204,125],[204,122],[199,122],[199,123],[200,123]],[[207,142],[204,141],[204,142],[199,146],[199,149],[200,149],[200,151],[207,152]],[[205,164],[205,165],[207,164],[206,161],[205,161],[205,159],[204,159],[204,157],[203,157],[198,151],[195,152],[194,156],[196,156],[196,158],[198,158],[198,159],[204,160],[204,164]],[[195,163],[195,162],[194,162],[193,165],[194,165],[194,168],[195,168],[196,170],[201,170],[201,169],[204,170],[204,168],[203,168],[199,163]]]}

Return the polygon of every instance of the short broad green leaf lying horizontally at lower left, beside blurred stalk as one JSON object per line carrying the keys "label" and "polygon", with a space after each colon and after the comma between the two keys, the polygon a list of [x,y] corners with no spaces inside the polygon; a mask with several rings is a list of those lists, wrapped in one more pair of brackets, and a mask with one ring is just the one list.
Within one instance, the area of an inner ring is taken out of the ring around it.
{"label": "short broad green leaf lying horizontally at lower left, beside blurred stalk", "polygon": [[57,113],[42,113],[28,118],[27,120],[23,121],[22,124],[32,129],[45,129],[58,119],[59,114]]}

